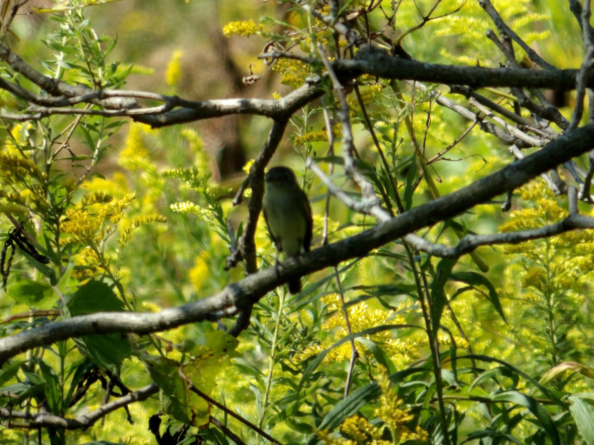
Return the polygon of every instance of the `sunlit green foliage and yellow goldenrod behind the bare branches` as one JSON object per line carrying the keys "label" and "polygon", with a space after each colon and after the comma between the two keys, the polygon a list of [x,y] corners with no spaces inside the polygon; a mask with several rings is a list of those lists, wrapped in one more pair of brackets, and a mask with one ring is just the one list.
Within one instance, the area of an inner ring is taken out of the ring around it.
{"label": "sunlit green foliage and yellow goldenrod behind the bare branches", "polygon": [[[256,57],[268,40],[293,38],[280,33],[283,27],[298,31],[295,42],[310,55],[317,56],[312,42],[334,45],[330,31],[289,2],[254,7],[143,0],[83,7],[95,3],[100,2],[72,0],[76,8],[62,9],[56,2],[52,12],[18,18],[14,52],[64,81],[202,100],[283,96],[309,74],[301,62],[281,60],[254,87],[238,90],[225,74],[227,61],[217,55],[217,45],[226,45],[244,74],[251,62],[255,73],[264,72]],[[419,23],[419,10],[432,7],[428,1],[416,4],[400,5],[401,33]],[[557,2],[494,4],[549,61],[560,68],[580,65],[579,28]],[[500,55],[485,37],[488,18],[476,2],[444,0],[434,15],[443,17],[403,37],[408,52],[424,61],[499,65]],[[369,19],[372,28],[385,21],[378,10]],[[5,66],[0,75],[32,87]],[[402,187],[406,208],[435,198],[431,184],[416,182],[421,167],[415,144],[431,158],[469,123],[438,107],[427,93],[399,82],[363,81],[361,100],[352,93],[349,105],[366,176],[392,208],[390,176]],[[447,88],[434,85],[431,91],[464,101]],[[3,112],[21,105],[5,91],[0,99]],[[330,96],[325,100],[332,109]],[[372,142],[363,108],[387,164]],[[293,167],[307,190],[315,246],[326,236],[326,220],[329,242],[375,224],[335,200],[325,214],[327,191],[307,172],[304,158],[313,157],[328,173],[333,169],[335,182],[349,192],[357,190],[343,177],[340,150],[328,152],[323,108],[309,106],[291,124],[273,163]],[[261,117],[239,119],[247,158],[260,150],[268,127]],[[332,130],[340,139],[340,128]],[[220,177],[216,150],[222,131],[211,122],[153,130],[99,116],[4,119],[0,208],[36,234],[34,247],[49,263],[15,254],[7,290],[0,294],[1,335],[77,314],[179,306],[241,279],[240,268],[223,269],[232,244],[227,220],[237,232],[246,212],[231,205],[241,174]],[[478,128],[446,156],[428,170],[442,196],[511,160],[500,142]],[[516,191],[509,214],[499,204],[478,206],[419,234],[451,244],[457,241],[453,228],[463,234],[512,231],[567,216],[565,199],[539,180]],[[0,218],[3,240],[12,227]],[[263,224],[256,242],[259,266],[270,267],[276,252]],[[166,425],[173,433],[188,424],[187,438],[230,443],[209,424],[213,416],[245,443],[266,443],[253,428],[192,393],[192,384],[281,443],[442,443],[445,434],[454,443],[594,443],[587,427],[594,419],[594,351],[588,341],[594,335],[592,232],[478,253],[488,273],[479,273],[468,256],[440,260],[395,241],[336,271],[310,275],[299,295],[285,288],[270,293],[256,304],[251,326],[237,340],[222,329],[233,320],[223,319],[219,325],[198,323],[141,338],[89,336],[34,349],[0,370],[0,402],[23,411],[43,405],[51,414],[75,417],[103,403],[105,389],[89,380],[91,369],[98,369],[94,372],[108,380],[119,374],[130,390],[154,382],[159,397],[129,405],[129,418],[123,409],[112,412],[89,430],[45,428],[44,443],[153,443],[148,421],[159,411],[162,434]],[[432,344],[440,350],[439,374]],[[353,347],[358,357],[350,370]],[[85,383],[86,392],[75,399]],[[0,427],[2,443],[34,440],[36,434]]]}

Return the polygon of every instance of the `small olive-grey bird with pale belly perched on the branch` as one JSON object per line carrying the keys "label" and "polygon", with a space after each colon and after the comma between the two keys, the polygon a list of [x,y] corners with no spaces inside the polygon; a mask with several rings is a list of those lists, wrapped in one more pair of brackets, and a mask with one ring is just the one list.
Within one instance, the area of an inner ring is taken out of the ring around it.
{"label": "small olive-grey bird with pale belly perched on the branch", "polygon": [[[279,252],[285,252],[287,258],[309,252],[313,230],[311,207],[293,170],[288,167],[268,170],[262,205],[264,220]],[[289,292],[301,292],[301,278],[289,281]]]}

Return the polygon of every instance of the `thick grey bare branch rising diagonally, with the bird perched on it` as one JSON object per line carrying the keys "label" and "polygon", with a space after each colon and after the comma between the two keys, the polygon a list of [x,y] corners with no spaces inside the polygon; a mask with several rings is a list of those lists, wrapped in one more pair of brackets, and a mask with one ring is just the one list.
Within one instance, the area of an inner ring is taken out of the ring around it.
{"label": "thick grey bare branch rising diagonally, with the bird perched on it", "polygon": [[566,133],[546,147],[504,169],[490,174],[456,192],[413,208],[396,218],[329,244],[280,268],[268,268],[248,275],[220,293],[157,313],[96,313],[48,323],[38,328],[0,339],[0,364],[27,349],[59,340],[90,334],[131,332],[144,334],[172,329],[187,323],[233,316],[238,307],[258,301],[268,291],[290,279],[328,266],[367,255],[372,249],[402,238],[422,227],[452,218],[472,206],[517,188],[554,166],[563,164],[594,147],[594,124]]}

